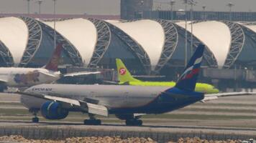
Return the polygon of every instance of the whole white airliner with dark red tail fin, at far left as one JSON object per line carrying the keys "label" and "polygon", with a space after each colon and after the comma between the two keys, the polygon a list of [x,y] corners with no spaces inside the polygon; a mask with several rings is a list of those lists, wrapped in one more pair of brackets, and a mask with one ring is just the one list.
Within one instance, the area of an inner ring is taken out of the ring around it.
{"label": "whole white airliner with dark red tail fin, at far left", "polygon": [[86,74],[99,74],[95,72],[76,72],[62,75],[58,71],[58,61],[63,49],[62,44],[58,44],[52,58],[42,68],[23,68],[23,67],[0,67],[0,92],[7,87],[31,87],[36,84],[51,83],[61,76],[75,77]]}

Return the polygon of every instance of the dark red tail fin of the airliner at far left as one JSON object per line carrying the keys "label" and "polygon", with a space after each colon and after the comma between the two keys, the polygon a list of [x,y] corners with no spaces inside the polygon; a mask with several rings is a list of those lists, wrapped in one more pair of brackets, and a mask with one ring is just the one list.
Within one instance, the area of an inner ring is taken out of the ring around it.
{"label": "dark red tail fin of the airliner at far left", "polygon": [[58,44],[55,48],[55,51],[52,54],[52,58],[45,66],[45,69],[48,69],[50,71],[58,71],[58,64],[60,60],[60,54],[63,50],[63,44]]}

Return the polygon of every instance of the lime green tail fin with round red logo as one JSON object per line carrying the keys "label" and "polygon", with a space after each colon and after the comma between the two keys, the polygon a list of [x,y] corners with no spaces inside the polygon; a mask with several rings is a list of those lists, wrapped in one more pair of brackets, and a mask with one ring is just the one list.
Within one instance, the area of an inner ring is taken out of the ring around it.
{"label": "lime green tail fin with round red logo", "polygon": [[138,82],[138,79],[135,79],[132,77],[130,72],[128,71],[127,67],[124,65],[121,59],[116,59],[116,67],[117,67],[117,73],[118,73],[118,79],[119,82],[125,83],[125,82]]}

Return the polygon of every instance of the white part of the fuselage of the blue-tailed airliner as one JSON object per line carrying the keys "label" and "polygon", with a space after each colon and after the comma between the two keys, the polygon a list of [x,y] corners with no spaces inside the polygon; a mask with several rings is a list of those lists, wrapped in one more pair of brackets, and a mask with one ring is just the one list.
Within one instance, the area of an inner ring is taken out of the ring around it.
{"label": "white part of the fuselage of the blue-tailed airliner", "polygon": [[[149,104],[165,89],[167,87],[41,84],[27,89],[26,92],[51,94],[82,101],[95,99],[99,104],[109,108],[132,108]],[[24,95],[21,101],[29,109],[40,109],[46,102],[43,99]]]}

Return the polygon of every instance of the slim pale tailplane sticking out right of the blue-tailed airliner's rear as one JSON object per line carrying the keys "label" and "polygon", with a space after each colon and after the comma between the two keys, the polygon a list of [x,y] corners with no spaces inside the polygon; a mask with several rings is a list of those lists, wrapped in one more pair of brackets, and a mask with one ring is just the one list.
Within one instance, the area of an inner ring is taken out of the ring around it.
{"label": "slim pale tailplane sticking out right of the blue-tailed airliner's rear", "polygon": [[219,94],[205,94],[204,99],[201,102],[207,102],[209,100],[218,99],[219,97],[234,97],[234,96],[244,96],[244,95],[253,95],[255,92],[226,92]]}

